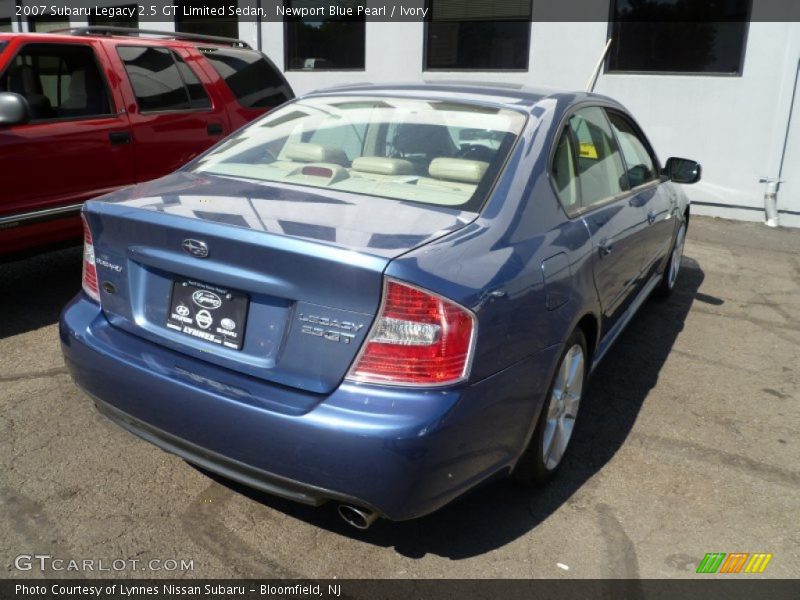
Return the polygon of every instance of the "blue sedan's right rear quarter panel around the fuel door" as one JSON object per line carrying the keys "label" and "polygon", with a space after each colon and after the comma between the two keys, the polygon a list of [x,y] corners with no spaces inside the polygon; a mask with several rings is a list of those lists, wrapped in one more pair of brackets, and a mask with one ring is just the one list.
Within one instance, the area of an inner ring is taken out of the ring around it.
{"label": "blue sedan's right rear quarter panel around the fuel door", "polygon": [[[597,312],[591,239],[580,219],[566,217],[548,177],[553,123],[566,104],[544,100],[534,107],[475,222],[387,269],[475,312],[473,381],[563,343],[583,315]],[[569,265],[566,297],[548,310],[543,262],[561,253]]]}

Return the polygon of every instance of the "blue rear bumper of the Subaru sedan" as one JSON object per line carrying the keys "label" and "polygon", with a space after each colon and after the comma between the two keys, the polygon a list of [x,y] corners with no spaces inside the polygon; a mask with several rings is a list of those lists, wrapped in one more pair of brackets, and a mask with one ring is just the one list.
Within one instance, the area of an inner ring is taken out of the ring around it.
{"label": "blue rear bumper of the Subaru sedan", "polygon": [[[64,309],[60,335],[75,382],[134,434],[272,494],[352,503],[393,520],[430,513],[513,466],[559,350],[458,388],[343,383],[314,395],[121,331],[82,294]],[[293,396],[311,408],[293,410]]]}

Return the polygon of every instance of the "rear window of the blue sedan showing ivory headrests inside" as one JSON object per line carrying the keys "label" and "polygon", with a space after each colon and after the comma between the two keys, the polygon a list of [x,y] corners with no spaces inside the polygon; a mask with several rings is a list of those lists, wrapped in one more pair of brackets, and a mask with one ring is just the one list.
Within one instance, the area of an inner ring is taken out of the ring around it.
{"label": "rear window of the blue sedan showing ivory headrests inside", "polygon": [[189,168],[477,211],[524,122],[516,111],[441,100],[312,97]]}

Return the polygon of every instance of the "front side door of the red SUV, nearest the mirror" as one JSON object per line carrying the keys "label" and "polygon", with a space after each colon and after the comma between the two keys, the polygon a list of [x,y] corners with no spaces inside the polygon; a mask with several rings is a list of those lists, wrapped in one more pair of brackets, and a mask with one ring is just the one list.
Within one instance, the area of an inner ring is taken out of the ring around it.
{"label": "front side door of the red SUV, nearest the mirror", "polygon": [[6,52],[0,91],[24,96],[32,120],[0,127],[0,254],[75,237],[84,200],[136,178],[128,117],[99,43],[36,41]]}

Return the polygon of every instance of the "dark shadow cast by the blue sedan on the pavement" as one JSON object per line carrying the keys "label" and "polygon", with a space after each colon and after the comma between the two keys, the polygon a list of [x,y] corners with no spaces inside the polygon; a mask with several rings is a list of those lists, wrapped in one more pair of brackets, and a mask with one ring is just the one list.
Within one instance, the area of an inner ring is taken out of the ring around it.
{"label": "dark shadow cast by the blue sedan on the pavement", "polygon": [[[377,521],[366,531],[345,524],[336,505],[308,507],[214,479],[275,510],[315,527],[421,558],[434,554],[453,560],[477,556],[504,546],[542,523],[600,471],[627,439],[664,362],[697,299],[704,274],[685,257],[674,294],[650,300],[634,317],[595,371],[576,425],[573,445],[561,472],[538,489],[525,489],[508,479],[481,486],[441,510],[407,522]],[[701,297],[702,296],[702,297]]]}

